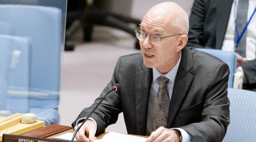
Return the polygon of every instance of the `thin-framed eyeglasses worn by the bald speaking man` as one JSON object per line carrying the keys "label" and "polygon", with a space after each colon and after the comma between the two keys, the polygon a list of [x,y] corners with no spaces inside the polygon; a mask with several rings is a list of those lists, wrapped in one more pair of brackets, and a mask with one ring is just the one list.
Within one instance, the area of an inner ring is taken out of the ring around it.
{"label": "thin-framed eyeglasses worn by the bald speaking man", "polygon": [[136,34],[136,37],[140,40],[140,41],[145,41],[145,39],[147,37],[149,37],[151,43],[153,44],[160,44],[161,40],[163,38],[169,38],[169,37],[173,37],[173,36],[177,36],[177,35],[182,35],[182,34],[176,34],[176,35],[169,35],[169,36],[165,36],[165,37],[161,37],[160,35],[148,35],[147,33],[139,30],[139,28],[135,29],[134,32]]}

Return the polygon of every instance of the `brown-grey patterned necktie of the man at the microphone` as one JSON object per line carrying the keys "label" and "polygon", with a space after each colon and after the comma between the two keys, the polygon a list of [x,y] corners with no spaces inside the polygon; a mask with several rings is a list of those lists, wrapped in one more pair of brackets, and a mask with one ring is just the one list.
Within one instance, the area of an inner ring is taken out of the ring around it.
{"label": "brown-grey patterned necktie of the man at the microphone", "polygon": [[153,131],[157,130],[157,128],[161,126],[164,128],[167,126],[170,105],[169,93],[167,89],[168,81],[169,79],[165,76],[159,76],[157,78],[159,89],[154,101]]}

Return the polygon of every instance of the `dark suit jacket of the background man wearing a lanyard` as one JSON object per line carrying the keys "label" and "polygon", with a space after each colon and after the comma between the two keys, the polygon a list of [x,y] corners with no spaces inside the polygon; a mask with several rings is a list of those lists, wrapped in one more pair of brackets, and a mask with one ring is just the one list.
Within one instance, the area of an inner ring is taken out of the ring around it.
{"label": "dark suit jacket of the background man wearing a lanyard", "polygon": [[[232,4],[233,0],[195,0],[189,17],[187,46],[221,49]],[[242,64],[242,68],[249,83],[247,88],[256,91],[256,59]]]}

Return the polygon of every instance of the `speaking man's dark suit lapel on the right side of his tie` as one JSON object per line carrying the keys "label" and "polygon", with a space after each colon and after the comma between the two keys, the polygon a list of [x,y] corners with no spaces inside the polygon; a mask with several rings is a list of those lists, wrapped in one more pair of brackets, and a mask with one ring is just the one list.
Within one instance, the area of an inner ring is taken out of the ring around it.
{"label": "speaking man's dark suit lapel on the right side of his tie", "polygon": [[192,69],[192,55],[188,47],[182,49],[180,66],[175,77],[172,98],[169,107],[167,128],[171,127],[172,121],[185,97],[189,86],[193,80],[193,75],[189,73]]}

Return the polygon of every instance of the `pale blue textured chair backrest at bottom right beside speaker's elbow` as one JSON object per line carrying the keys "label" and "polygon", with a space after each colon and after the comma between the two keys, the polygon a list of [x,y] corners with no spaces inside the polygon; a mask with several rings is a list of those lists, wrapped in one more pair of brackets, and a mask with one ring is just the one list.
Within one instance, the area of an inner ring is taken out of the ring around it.
{"label": "pale blue textured chair backrest at bottom right beside speaker's elbow", "polygon": [[256,142],[256,92],[228,88],[230,125],[223,142]]}

